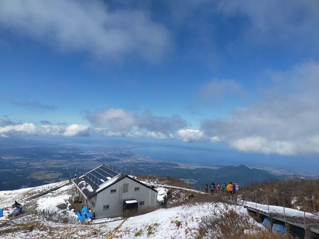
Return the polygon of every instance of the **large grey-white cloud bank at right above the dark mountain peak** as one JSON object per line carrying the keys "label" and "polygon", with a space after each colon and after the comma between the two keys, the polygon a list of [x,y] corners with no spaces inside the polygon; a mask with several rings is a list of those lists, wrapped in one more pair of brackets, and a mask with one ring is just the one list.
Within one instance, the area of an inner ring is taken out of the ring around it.
{"label": "large grey-white cloud bank at right above the dark mountain peak", "polygon": [[274,89],[261,102],[205,121],[202,130],[244,152],[319,153],[319,63],[306,62],[271,76]]}

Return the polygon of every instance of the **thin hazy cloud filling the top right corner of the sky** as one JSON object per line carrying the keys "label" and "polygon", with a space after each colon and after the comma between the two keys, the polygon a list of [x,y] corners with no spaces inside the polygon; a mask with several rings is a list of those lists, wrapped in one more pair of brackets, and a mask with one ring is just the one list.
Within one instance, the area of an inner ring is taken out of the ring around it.
{"label": "thin hazy cloud filling the top right corner of the sky", "polygon": [[294,49],[303,45],[319,51],[319,32],[314,30],[319,25],[317,0],[218,1],[216,6],[224,16],[248,20],[243,29],[247,39],[263,44],[282,43]]}

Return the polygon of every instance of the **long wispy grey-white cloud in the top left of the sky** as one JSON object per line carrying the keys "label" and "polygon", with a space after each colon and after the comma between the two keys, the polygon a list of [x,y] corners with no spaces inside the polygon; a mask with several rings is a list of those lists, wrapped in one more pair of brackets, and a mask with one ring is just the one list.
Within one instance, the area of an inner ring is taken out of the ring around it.
{"label": "long wispy grey-white cloud in the top left of the sky", "polygon": [[110,8],[102,0],[0,1],[0,27],[97,57],[134,53],[154,61],[169,45],[167,29],[147,12]]}

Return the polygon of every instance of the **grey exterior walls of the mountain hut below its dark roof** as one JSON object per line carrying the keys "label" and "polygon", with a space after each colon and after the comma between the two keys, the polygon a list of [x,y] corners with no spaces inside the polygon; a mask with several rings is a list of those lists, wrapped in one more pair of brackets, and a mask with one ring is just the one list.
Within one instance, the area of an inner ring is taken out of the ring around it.
{"label": "grey exterior walls of the mountain hut below its dark roof", "polygon": [[[123,184],[129,184],[128,192],[123,192]],[[135,187],[139,187],[139,191],[134,191]],[[116,189],[116,192],[111,193],[111,189]],[[129,178],[124,178],[98,193],[95,203],[95,216],[96,218],[121,216],[123,214],[124,201],[133,199],[137,202],[144,201],[144,205],[139,205],[138,203],[138,210],[150,206],[155,207],[157,193]],[[108,210],[103,210],[104,205],[109,205]]]}

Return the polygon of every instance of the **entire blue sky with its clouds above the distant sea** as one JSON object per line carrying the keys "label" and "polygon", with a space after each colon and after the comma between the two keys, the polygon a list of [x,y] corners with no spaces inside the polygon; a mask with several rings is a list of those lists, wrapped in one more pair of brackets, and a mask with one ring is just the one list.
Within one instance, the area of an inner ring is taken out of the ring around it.
{"label": "entire blue sky with its clouds above the distant sea", "polygon": [[0,0],[0,135],[318,154],[318,9],[316,0]]}

